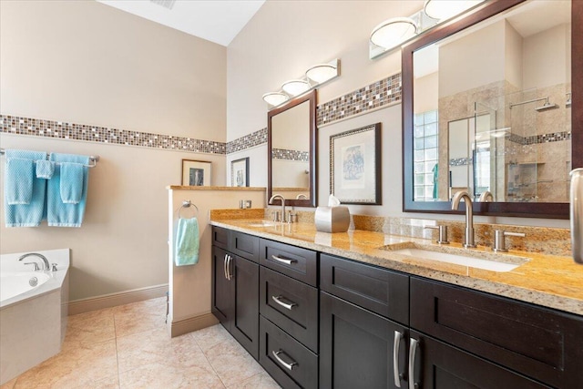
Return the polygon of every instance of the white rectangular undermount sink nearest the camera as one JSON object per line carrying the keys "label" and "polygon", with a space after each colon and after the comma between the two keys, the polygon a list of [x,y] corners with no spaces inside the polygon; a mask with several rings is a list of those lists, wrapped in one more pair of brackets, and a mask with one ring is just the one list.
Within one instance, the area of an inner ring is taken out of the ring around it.
{"label": "white rectangular undermount sink nearest the camera", "polygon": [[[511,271],[530,261],[528,258],[518,257],[516,255],[495,254],[485,251],[467,251],[465,249],[444,248],[442,246],[428,248],[414,243],[409,247],[399,246],[394,247],[394,245],[388,245],[384,246],[383,249],[417,260],[440,261],[498,272]],[[454,253],[452,251],[458,252]]]}

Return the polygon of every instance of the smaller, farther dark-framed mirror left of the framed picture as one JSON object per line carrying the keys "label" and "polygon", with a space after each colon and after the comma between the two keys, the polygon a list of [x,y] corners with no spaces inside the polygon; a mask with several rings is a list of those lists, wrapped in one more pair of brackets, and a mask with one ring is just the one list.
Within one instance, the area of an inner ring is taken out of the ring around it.
{"label": "smaller, farther dark-framed mirror left of the framed picture", "polygon": [[315,207],[315,89],[267,113],[267,148],[268,199],[281,194],[286,205]]}

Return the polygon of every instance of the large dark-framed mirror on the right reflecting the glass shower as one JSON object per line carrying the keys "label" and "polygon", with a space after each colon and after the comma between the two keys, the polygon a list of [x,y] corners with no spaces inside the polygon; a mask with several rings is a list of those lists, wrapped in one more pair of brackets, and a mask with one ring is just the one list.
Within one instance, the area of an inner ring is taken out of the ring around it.
{"label": "large dark-framed mirror on the right reflecting the glass shower", "polygon": [[[498,0],[403,48],[404,211],[568,219],[583,2]],[[577,21],[577,23],[575,23]]]}

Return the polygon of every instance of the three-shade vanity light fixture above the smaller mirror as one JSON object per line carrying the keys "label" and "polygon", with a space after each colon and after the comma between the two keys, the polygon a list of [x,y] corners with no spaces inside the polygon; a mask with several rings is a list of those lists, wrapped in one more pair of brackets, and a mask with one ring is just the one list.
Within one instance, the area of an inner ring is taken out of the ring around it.
{"label": "three-shade vanity light fixture above the smaller mirror", "polygon": [[286,81],[278,92],[269,92],[263,95],[269,108],[281,106],[292,97],[303,95],[305,92],[319,87],[340,75],[340,60],[332,59],[327,64],[318,64],[306,70],[304,76],[298,79]]}

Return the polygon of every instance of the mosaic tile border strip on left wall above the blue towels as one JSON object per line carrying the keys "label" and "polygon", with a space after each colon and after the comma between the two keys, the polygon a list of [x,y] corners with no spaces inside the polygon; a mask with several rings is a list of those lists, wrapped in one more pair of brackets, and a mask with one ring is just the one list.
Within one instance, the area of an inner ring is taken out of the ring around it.
{"label": "mosaic tile border strip on left wall above the blue towels", "polygon": [[208,154],[227,153],[226,143],[213,140],[175,137],[172,135],[89,126],[40,118],[22,118],[10,115],[0,115],[0,132]]}

